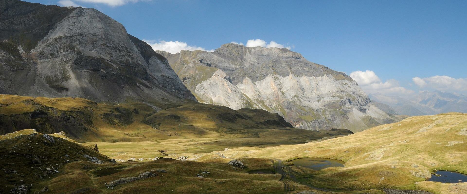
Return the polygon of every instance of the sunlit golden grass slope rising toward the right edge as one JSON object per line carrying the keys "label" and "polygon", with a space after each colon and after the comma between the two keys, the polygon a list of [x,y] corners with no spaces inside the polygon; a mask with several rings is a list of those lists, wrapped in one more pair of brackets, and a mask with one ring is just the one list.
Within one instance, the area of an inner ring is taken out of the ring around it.
{"label": "sunlit golden grass slope rising toward the right edge", "polygon": [[[331,167],[315,175],[322,187],[423,189],[439,194],[465,194],[467,183],[425,181],[434,170],[467,174],[467,114],[446,113],[409,117],[400,122],[320,142],[221,152],[227,158],[333,158],[345,167]],[[220,160],[218,153],[201,160]],[[384,179],[382,179],[384,177]],[[465,190],[463,190],[463,188]],[[459,193],[459,189],[460,192]]]}

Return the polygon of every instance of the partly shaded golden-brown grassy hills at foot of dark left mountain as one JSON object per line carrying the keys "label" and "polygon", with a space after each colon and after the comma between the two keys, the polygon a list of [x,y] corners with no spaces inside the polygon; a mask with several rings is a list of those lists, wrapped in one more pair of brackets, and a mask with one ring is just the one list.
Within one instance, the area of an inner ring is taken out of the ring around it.
{"label": "partly shaded golden-brown grassy hills at foot of dark left mountain", "polygon": [[260,109],[187,103],[159,110],[140,102],[0,95],[0,134],[29,128],[44,134],[64,131],[67,138],[97,143],[102,153],[120,160],[298,144],[351,134],[345,129],[292,128],[278,114]]}

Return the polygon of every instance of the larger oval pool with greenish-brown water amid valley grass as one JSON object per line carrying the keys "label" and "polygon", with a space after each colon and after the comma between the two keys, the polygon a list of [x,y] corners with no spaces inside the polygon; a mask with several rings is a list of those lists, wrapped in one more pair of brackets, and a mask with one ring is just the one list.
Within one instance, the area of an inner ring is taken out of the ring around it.
{"label": "larger oval pool with greenish-brown water amid valley grass", "polygon": [[313,170],[321,170],[327,167],[344,167],[345,162],[325,158],[300,158],[290,161],[297,167],[307,167]]}

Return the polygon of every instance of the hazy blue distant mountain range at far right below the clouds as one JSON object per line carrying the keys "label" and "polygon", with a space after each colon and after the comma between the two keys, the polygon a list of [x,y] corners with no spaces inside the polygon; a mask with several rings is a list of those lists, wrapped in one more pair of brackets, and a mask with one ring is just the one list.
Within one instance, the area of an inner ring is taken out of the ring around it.
{"label": "hazy blue distant mountain range at far right below the clouds", "polygon": [[391,114],[417,116],[448,112],[467,113],[467,96],[462,94],[424,91],[410,98],[381,93],[368,96],[375,102],[376,107]]}

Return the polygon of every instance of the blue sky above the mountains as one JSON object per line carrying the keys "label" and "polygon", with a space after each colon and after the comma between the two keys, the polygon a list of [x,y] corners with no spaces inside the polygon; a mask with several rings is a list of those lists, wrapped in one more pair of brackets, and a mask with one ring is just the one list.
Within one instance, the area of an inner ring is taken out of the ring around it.
{"label": "blue sky above the mountains", "polygon": [[231,41],[275,41],[354,72],[367,93],[467,93],[467,1],[27,1],[96,8],[158,46],[180,41],[211,50]]}

